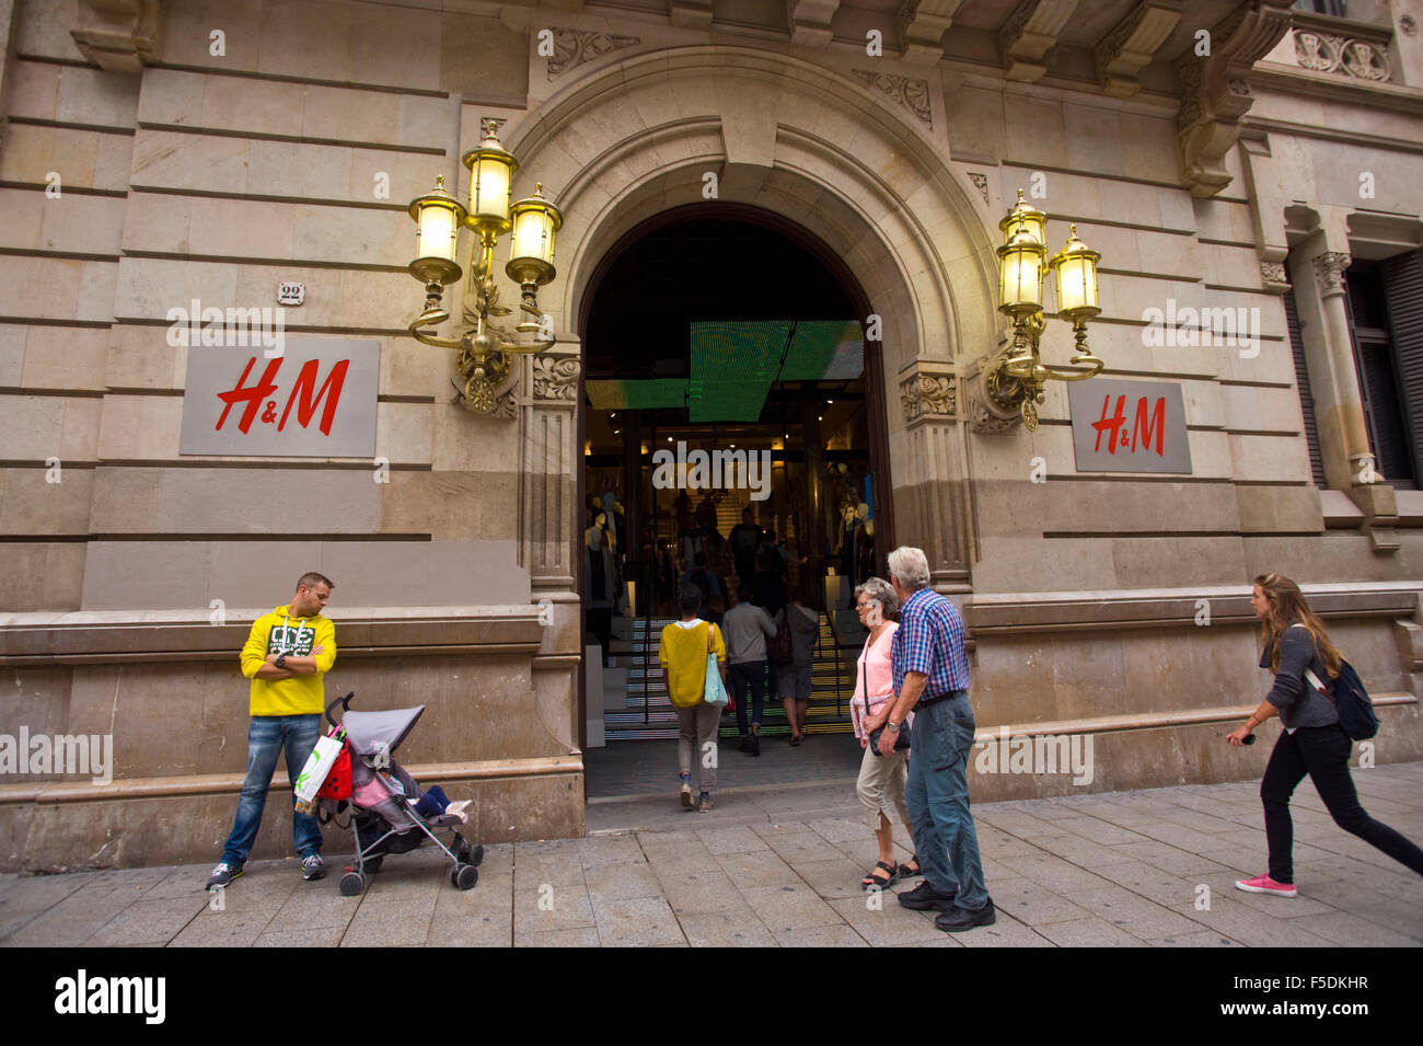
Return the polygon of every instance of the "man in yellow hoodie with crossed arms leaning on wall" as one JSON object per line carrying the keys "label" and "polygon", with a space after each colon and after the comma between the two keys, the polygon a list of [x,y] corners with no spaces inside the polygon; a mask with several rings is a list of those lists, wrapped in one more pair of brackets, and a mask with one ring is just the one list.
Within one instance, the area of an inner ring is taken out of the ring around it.
{"label": "man in yellow hoodie with crossed arms leaning on wall", "polygon": [[[322,736],[326,692],[322,677],[336,662],[336,626],[322,616],[332,598],[332,582],[320,574],[303,574],[287,606],[252,622],[242,648],[242,675],[252,680],[248,727],[248,777],[242,783],[238,815],[222,848],[222,862],[212,870],[208,889],[226,887],[242,874],[252,851],[276,760],[286,753],[286,776],[296,790],[296,776]],[[322,830],[310,814],[292,810],[292,840],[302,857],[302,878],[319,879]]]}

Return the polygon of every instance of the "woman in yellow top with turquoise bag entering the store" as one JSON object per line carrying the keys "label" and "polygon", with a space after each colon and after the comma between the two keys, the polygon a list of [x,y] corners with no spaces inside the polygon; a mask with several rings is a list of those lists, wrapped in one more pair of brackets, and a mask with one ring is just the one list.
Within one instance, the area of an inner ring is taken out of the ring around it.
{"label": "woman in yellow top with turquoise bag entering the store", "polygon": [[682,620],[662,629],[657,643],[657,663],[667,676],[667,696],[677,712],[677,760],[682,764],[682,807],[692,810],[692,759],[697,759],[697,783],[702,790],[697,810],[712,808],[712,788],[716,787],[716,731],[721,724],[721,709],[702,700],[706,690],[707,655],[716,653],[721,680],[726,682],[726,642],[721,629],[697,618],[702,589],[687,585],[682,589],[677,608]]}

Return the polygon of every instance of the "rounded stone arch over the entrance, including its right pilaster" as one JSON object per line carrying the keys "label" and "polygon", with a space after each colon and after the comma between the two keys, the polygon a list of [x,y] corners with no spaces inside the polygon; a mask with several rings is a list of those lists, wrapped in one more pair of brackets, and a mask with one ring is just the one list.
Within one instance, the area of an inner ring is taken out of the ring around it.
{"label": "rounded stone arch over the entrance, including its right pilaster", "polygon": [[[996,241],[942,144],[831,70],[723,46],[608,61],[505,141],[564,212],[559,279],[539,303],[569,343],[603,255],[645,219],[702,201],[707,174],[719,199],[780,213],[834,249],[882,319],[899,537],[925,545],[938,581],[966,581],[955,404],[962,364],[999,342]],[[747,293],[774,293],[754,259],[746,276]],[[932,410],[921,410],[921,374]]]}

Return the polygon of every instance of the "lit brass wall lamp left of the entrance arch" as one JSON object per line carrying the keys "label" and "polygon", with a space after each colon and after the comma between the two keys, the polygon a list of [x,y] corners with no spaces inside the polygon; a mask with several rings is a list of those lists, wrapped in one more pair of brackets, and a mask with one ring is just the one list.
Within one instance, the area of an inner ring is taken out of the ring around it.
{"label": "lit brass wall lamp left of the entrance arch", "polygon": [[[494,411],[495,390],[514,369],[515,353],[554,347],[554,332],[538,307],[538,289],[556,275],[554,233],[564,225],[558,208],[544,198],[542,184],[534,186],[532,196],[509,202],[518,161],[495,135],[501,122],[484,121],[484,141],[464,154],[464,165],[470,169],[468,209],[445,191],[444,176],[435,179],[434,189],[410,204],[410,216],[416,221],[416,260],[410,263],[410,275],[425,285],[425,307],[410,323],[410,336],[437,349],[458,349],[455,389],[464,406],[478,414]],[[478,236],[471,248],[470,279],[461,303],[464,322],[472,326],[457,339],[438,337],[423,327],[450,319],[441,299],[445,285],[461,275],[457,260],[461,228]],[[499,305],[494,285],[494,249],[498,238],[511,231],[504,272],[519,285],[519,309],[531,317],[514,329],[517,333],[490,322],[491,316],[512,312]]]}

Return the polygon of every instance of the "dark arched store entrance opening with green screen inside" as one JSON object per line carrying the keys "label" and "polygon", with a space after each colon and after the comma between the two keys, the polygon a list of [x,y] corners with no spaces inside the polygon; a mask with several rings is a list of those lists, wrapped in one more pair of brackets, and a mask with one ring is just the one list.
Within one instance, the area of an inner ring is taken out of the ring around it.
{"label": "dark arched store entrance opening with green screen inside", "polygon": [[[753,258],[768,292],[740,286]],[[808,729],[848,729],[852,589],[894,546],[868,313],[824,243],[747,205],[675,208],[608,252],[579,320],[595,743],[599,707],[609,741],[675,736],[655,652],[686,581],[713,615],[747,598],[774,615],[793,593],[818,613]],[[763,736],[788,737],[774,672],[767,696]]]}

